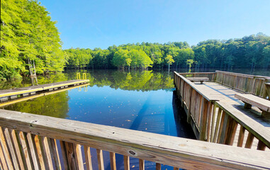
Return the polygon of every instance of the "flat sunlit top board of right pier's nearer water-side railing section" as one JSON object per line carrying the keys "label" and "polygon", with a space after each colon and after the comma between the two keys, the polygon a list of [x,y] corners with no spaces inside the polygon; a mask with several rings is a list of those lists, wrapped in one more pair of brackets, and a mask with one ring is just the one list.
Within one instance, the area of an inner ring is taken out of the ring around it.
{"label": "flat sunlit top board of right pier's nearer water-side railing section", "polygon": [[[257,137],[261,142],[270,148],[270,131],[266,129],[263,125],[258,123],[256,120],[249,118],[249,116],[238,111],[231,105],[223,101],[217,101],[216,104],[220,106],[228,115],[230,115],[234,120],[236,120],[245,129],[249,130],[255,137]],[[240,118],[241,117],[241,118]]]}

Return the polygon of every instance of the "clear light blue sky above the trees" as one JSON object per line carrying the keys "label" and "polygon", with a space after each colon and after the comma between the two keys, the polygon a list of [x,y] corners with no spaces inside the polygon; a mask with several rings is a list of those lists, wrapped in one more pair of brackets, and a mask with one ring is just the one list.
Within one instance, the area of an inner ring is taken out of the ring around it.
{"label": "clear light blue sky above the trees", "polygon": [[270,0],[40,0],[63,49],[270,35]]}

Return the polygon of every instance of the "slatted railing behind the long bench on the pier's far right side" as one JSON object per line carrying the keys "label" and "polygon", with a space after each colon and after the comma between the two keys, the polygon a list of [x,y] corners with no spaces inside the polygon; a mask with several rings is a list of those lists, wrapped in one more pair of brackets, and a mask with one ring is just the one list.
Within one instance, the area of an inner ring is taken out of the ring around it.
{"label": "slatted railing behind the long bench on the pier's far right side", "polygon": [[270,77],[254,76],[249,74],[238,74],[232,72],[215,71],[215,81],[230,86],[233,89],[244,91],[256,96],[265,97],[265,83],[270,81]]}

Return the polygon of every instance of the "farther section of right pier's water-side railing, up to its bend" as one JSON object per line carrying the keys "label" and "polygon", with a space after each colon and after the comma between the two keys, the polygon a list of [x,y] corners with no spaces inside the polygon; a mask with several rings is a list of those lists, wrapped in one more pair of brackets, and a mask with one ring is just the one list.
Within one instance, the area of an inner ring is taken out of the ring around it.
{"label": "farther section of right pier's water-side railing, up to its bend", "polygon": [[207,118],[213,110],[216,99],[203,91],[201,86],[196,86],[176,72],[174,72],[174,84],[177,96],[181,96],[181,105],[186,110],[193,132],[197,139],[203,140],[209,125]]}

